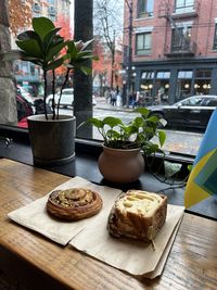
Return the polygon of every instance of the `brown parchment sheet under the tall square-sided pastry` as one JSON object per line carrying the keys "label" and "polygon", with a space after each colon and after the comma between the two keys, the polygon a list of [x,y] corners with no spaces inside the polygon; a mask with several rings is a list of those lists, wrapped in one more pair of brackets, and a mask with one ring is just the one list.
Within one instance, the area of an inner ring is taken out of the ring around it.
{"label": "brown parchment sheet under the tall square-sided pastry", "polygon": [[[163,270],[163,266],[176,236],[173,236],[173,234],[183,215],[183,206],[168,204],[166,223],[154,241],[155,251],[153,251],[151,243],[111,237],[106,229],[107,217],[105,218],[103,215],[94,219],[91,225],[74,237],[69,244],[79,251],[132,275],[143,276],[150,273],[149,276],[154,278],[161,275]],[[164,252],[166,254],[163,256]],[[159,262],[162,264],[159,264],[157,269],[157,264]],[[153,274],[152,272],[155,269],[157,272]]]}

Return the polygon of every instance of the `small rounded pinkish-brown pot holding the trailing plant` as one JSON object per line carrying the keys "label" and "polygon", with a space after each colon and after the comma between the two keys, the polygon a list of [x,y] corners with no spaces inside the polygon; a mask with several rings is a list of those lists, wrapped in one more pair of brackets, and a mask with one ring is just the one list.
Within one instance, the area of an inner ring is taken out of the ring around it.
{"label": "small rounded pinkish-brown pot holding the trailing plant", "polygon": [[128,184],[136,181],[144,171],[144,159],[140,148],[126,150],[103,146],[98,165],[106,180]]}

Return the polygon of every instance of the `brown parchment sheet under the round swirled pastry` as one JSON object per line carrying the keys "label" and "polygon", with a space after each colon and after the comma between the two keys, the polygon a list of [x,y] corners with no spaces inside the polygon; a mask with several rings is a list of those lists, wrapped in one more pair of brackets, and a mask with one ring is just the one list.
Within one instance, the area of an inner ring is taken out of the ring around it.
{"label": "brown parchment sheet under the round swirled pastry", "polygon": [[122,192],[119,189],[97,186],[81,177],[72,178],[53,190],[72,187],[86,187],[99,192],[103,200],[103,209],[101,212],[98,215],[77,222],[61,222],[52,218],[46,211],[49,192],[46,197],[9,213],[8,216],[17,224],[40,232],[58,243],[66,245],[71,239],[92,224],[95,218],[105,219],[116,197]]}

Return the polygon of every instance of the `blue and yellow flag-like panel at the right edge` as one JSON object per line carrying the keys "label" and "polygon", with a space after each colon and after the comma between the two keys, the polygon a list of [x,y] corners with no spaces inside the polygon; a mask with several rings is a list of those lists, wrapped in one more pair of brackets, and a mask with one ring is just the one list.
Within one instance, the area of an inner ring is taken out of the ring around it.
{"label": "blue and yellow flag-like panel at the right edge", "polygon": [[210,116],[184,192],[184,206],[217,194],[217,109]]}

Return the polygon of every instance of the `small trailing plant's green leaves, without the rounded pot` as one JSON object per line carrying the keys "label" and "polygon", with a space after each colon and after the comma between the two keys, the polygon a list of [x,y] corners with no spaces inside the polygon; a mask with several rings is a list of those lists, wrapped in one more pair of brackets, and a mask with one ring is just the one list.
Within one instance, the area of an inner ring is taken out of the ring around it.
{"label": "small trailing plant's green leaves, without the rounded pot", "polygon": [[[157,116],[151,116],[146,108],[138,108],[133,111],[139,113],[128,124],[120,118],[107,116],[103,119],[91,117],[81,125],[91,124],[103,138],[104,146],[116,149],[141,148],[148,156],[161,150],[166,140],[166,133],[158,129],[165,125],[165,121]],[[153,138],[157,141],[154,142]]]}

